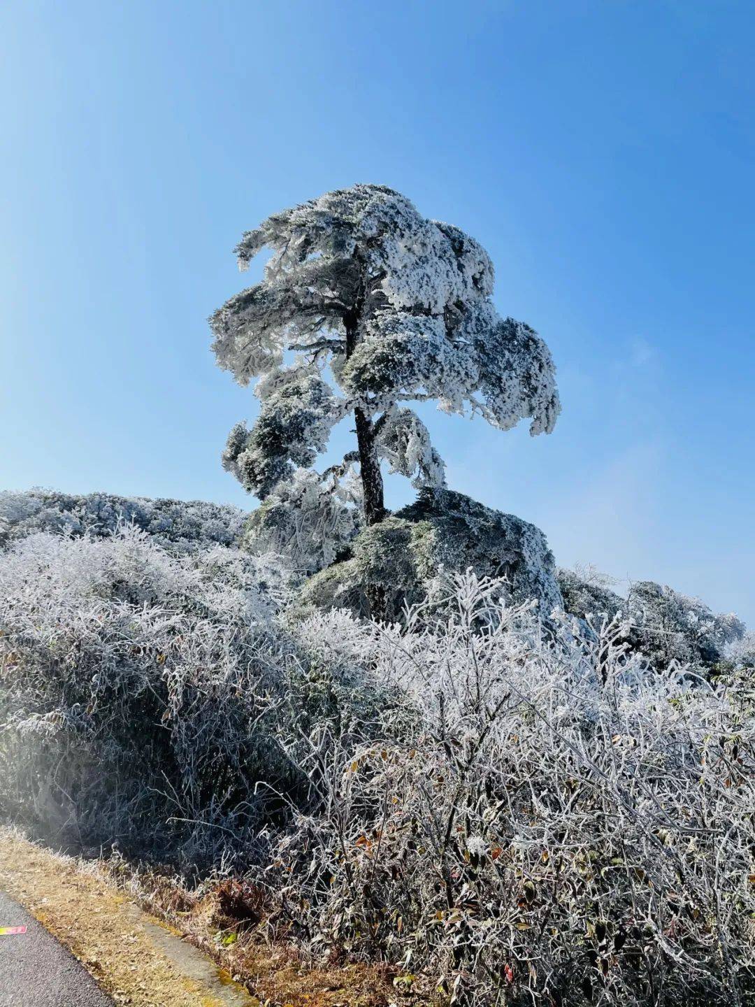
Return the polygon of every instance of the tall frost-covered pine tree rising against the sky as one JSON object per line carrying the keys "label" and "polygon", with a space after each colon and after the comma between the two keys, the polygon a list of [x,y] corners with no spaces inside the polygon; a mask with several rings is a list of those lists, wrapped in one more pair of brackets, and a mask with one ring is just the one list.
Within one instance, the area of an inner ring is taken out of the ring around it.
{"label": "tall frost-covered pine tree rising against the sky", "polygon": [[[458,228],[422,217],[384,185],[354,185],[274,213],[236,249],[241,269],[272,250],[261,283],[212,315],[212,348],[242,385],[259,379],[257,423],[237,425],[223,465],[261,499],[311,466],[353,414],[367,525],[385,515],[381,461],[417,486],[444,463],[407,401],[478,413],[507,430],[550,432],[560,405],[548,347],[500,318],[487,253]],[[337,386],[337,391],[333,386]]]}

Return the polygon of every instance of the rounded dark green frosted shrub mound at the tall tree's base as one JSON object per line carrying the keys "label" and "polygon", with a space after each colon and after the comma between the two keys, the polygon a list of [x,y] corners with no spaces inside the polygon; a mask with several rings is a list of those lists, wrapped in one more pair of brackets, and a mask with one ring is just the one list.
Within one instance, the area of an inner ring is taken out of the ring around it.
{"label": "rounded dark green frosted shrub mound at the tall tree's base", "polygon": [[364,529],[348,554],[304,585],[305,603],[403,619],[407,605],[448,600],[443,573],[471,569],[500,578],[509,601],[537,599],[544,618],[563,606],[543,532],[449,489],[423,489],[416,503]]}

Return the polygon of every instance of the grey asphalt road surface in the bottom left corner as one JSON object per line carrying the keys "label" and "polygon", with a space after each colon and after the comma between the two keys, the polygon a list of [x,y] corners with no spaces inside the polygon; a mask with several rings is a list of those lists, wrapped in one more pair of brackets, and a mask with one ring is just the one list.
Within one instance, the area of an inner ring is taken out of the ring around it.
{"label": "grey asphalt road surface in the bottom left corner", "polygon": [[0,936],[0,1007],[112,1007],[70,952],[0,891],[0,926],[24,925]]}

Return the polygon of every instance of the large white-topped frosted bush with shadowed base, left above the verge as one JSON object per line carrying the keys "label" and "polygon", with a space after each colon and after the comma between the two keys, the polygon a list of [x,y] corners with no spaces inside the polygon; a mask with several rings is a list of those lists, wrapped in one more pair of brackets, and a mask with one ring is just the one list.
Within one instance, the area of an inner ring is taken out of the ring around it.
{"label": "large white-topped frosted bush with shadowed base, left above the verge", "polygon": [[250,856],[276,789],[306,807],[279,721],[348,733],[373,695],[311,679],[275,620],[287,591],[278,558],[171,555],[131,526],[1,553],[0,815],[189,864]]}

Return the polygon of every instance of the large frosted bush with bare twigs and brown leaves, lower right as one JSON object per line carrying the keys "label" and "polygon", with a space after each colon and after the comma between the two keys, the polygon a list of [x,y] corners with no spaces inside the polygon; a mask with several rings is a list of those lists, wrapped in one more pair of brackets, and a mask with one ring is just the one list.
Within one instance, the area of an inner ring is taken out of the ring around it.
{"label": "large frosted bush with bare twigs and brown leaves, lower right", "polygon": [[475,1007],[751,1002],[752,709],[651,670],[619,621],[546,637],[500,583],[455,587],[443,623],[301,627],[402,702],[362,744],[282,739],[321,795],[262,875],[283,917]]}

